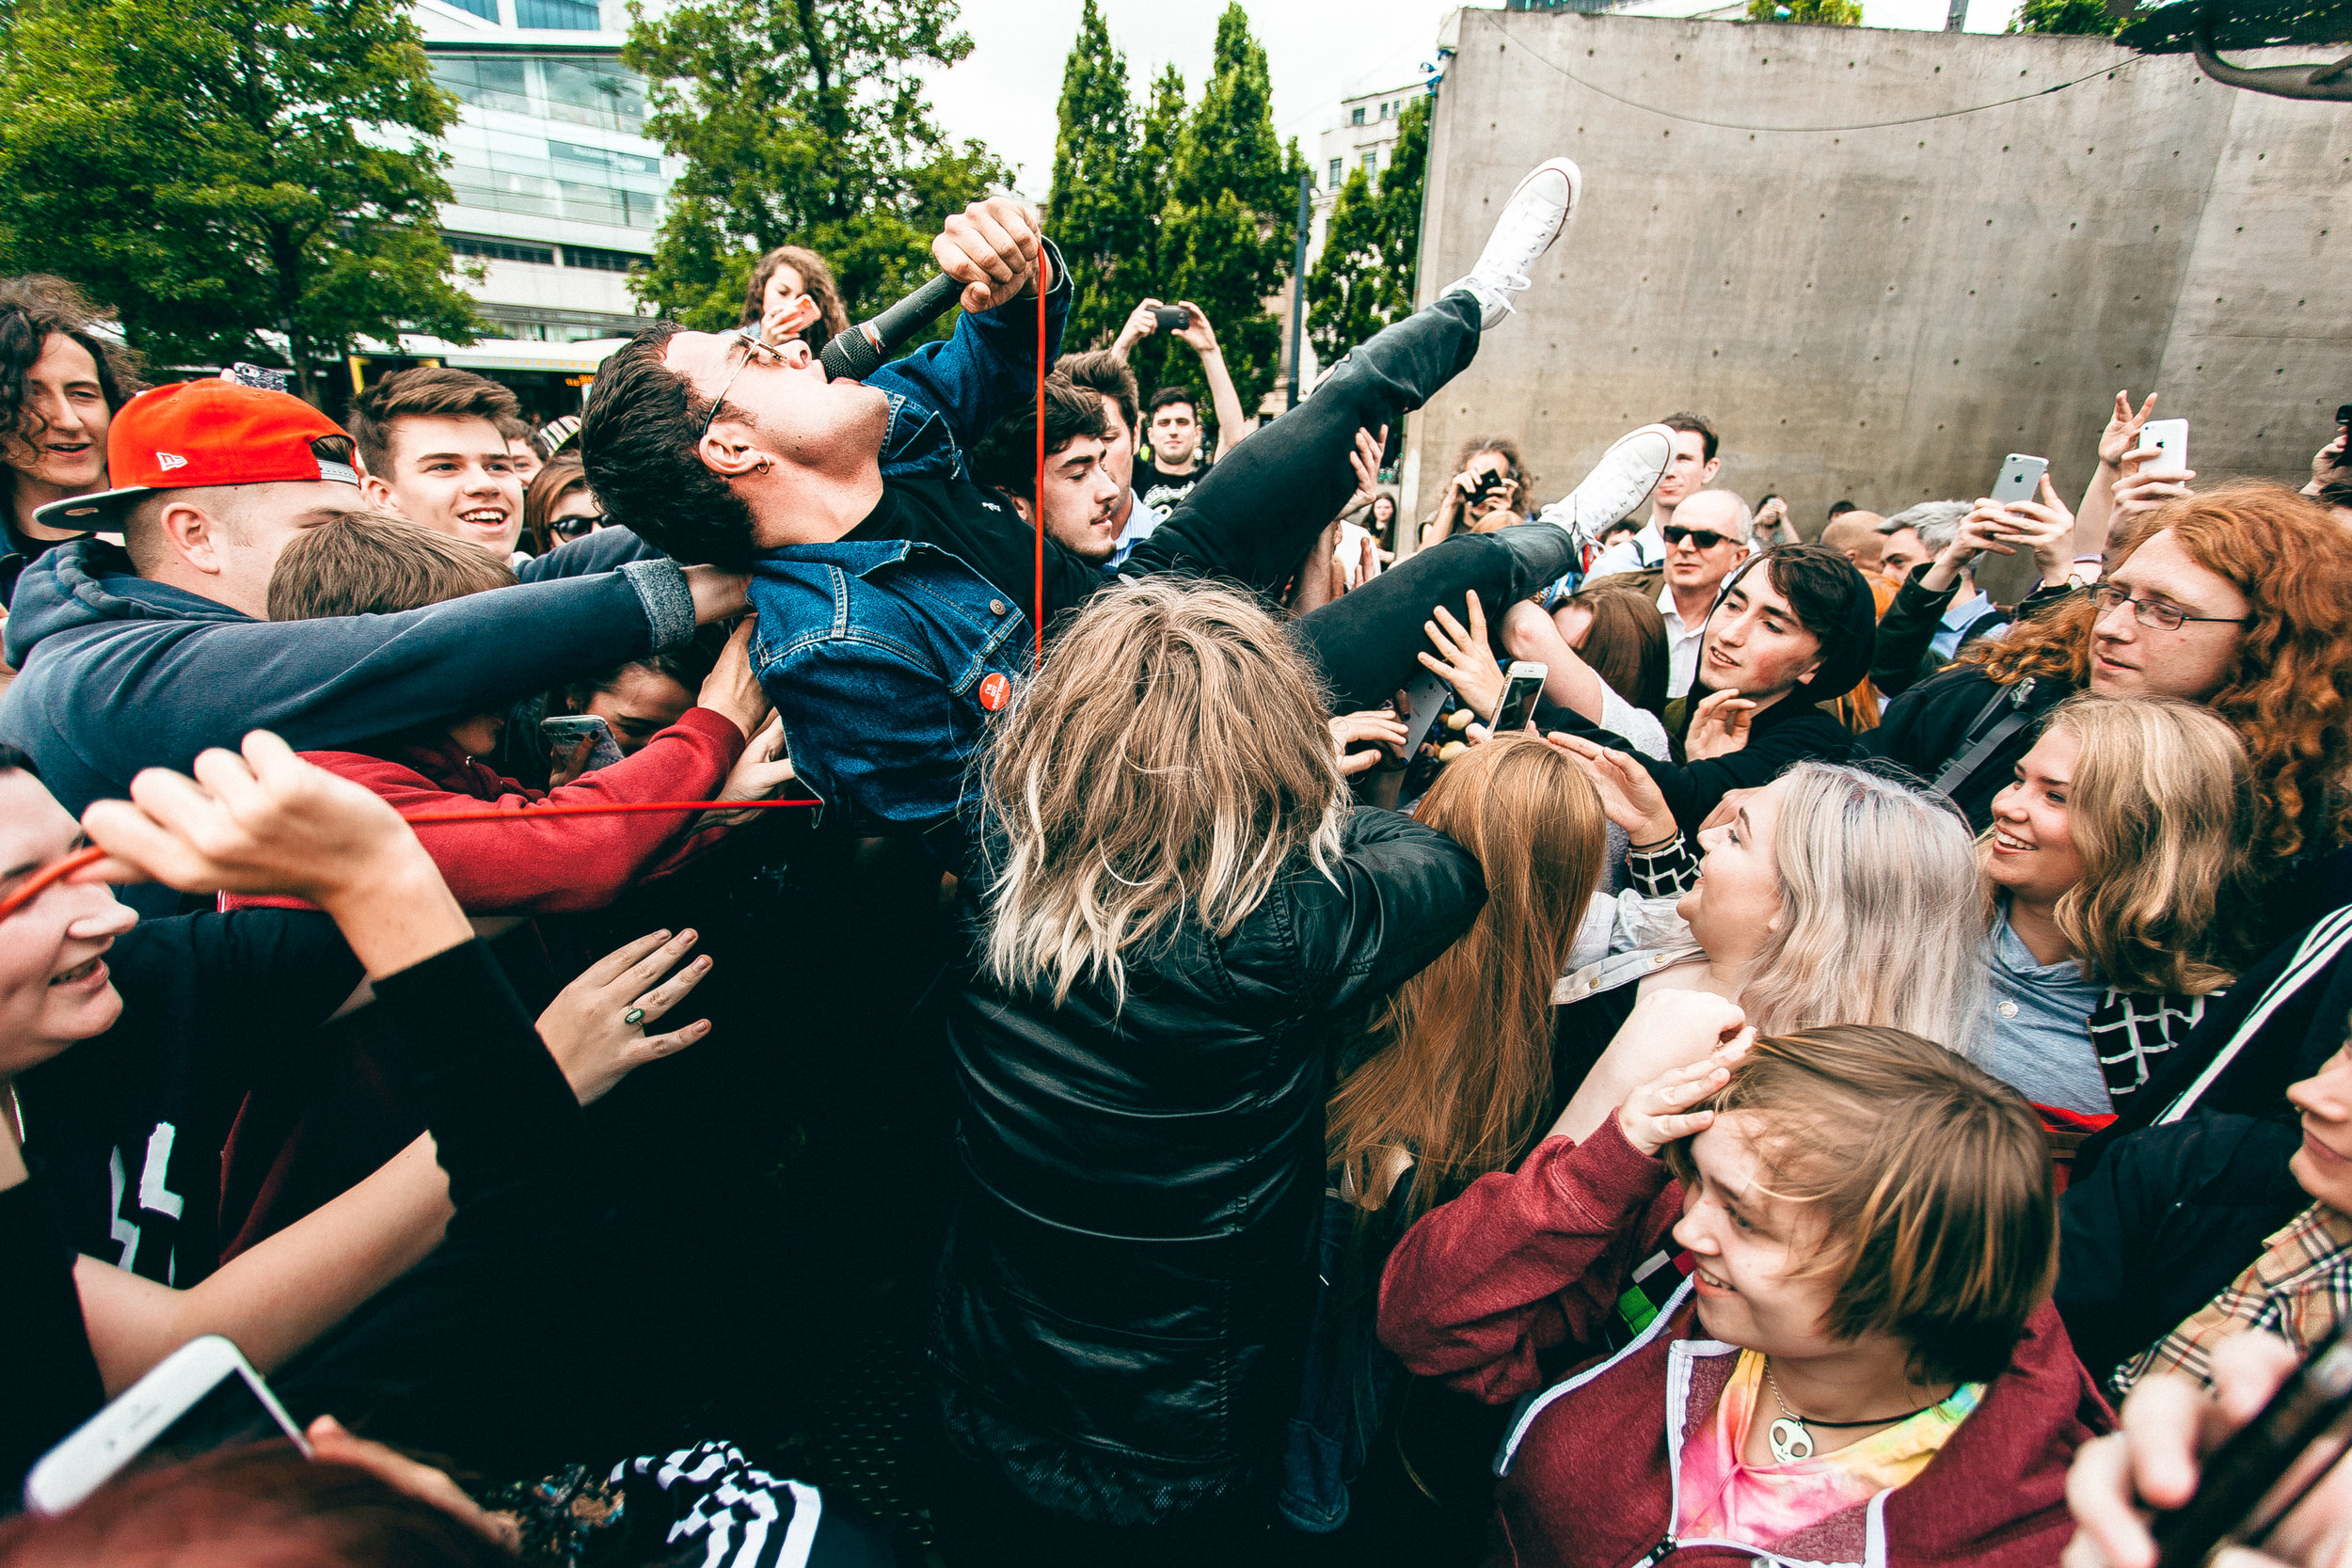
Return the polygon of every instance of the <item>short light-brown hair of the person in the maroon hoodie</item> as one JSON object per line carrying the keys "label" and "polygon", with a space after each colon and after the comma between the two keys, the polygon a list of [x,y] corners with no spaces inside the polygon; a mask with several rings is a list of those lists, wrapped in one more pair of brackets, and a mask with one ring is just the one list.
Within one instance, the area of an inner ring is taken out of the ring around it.
{"label": "short light-brown hair of the person in the maroon hoodie", "polygon": [[[1884,1333],[1922,1382],[1990,1382],[2058,1274],[2049,1140],[2025,1098],[1905,1030],[1759,1037],[1708,1100],[1755,1119],[1759,1185],[1813,1206],[1825,1328]],[[1689,1187],[1691,1140],[1663,1150]]]}

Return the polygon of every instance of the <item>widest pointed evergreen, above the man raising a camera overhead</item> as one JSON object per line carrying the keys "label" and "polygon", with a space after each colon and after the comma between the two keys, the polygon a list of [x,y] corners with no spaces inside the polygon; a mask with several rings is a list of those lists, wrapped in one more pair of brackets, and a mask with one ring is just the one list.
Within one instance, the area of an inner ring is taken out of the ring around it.
{"label": "widest pointed evergreen, above the man raising a camera overhead", "polygon": [[[1162,78],[1145,113],[1145,153],[1152,129],[1164,127],[1155,120],[1169,85],[1183,92],[1181,80]],[[1249,35],[1249,14],[1235,0],[1216,21],[1216,71],[1185,115],[1160,181],[1160,244],[1148,289],[1169,301],[1190,299],[1209,313],[1244,409],[1258,407],[1282,364],[1282,327],[1265,310],[1265,296],[1289,275],[1305,174],[1298,143],[1284,150],[1275,136],[1272,96],[1265,49]],[[1136,346],[1134,367],[1145,388],[1190,386],[1207,407],[1200,362],[1188,348],[1155,334]]]}

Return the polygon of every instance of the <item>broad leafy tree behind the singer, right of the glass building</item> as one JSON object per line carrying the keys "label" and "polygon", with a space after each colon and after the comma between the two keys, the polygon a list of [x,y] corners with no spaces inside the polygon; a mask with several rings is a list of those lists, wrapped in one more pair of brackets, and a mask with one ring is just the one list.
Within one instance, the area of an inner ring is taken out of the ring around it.
{"label": "broad leafy tree behind the singer, right of the glass building", "polygon": [[649,80],[647,134],[684,160],[630,287],[689,327],[731,327],[760,252],[807,244],[866,315],[931,266],[931,235],[1009,183],[950,143],[924,68],[971,54],[943,0],[630,0],[621,61]]}

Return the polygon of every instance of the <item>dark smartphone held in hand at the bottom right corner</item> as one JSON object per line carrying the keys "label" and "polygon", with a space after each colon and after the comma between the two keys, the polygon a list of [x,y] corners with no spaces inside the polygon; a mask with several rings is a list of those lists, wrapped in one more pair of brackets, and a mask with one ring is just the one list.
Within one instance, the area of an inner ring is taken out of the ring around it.
{"label": "dark smartphone held in hand at the bottom right corner", "polygon": [[2192,1568],[2216,1547],[2260,1547],[2303,1495],[2352,1446],[2352,1340],[2336,1328],[2288,1378],[2263,1413],[2216,1448],[2197,1495],[2157,1514],[2157,1568]]}

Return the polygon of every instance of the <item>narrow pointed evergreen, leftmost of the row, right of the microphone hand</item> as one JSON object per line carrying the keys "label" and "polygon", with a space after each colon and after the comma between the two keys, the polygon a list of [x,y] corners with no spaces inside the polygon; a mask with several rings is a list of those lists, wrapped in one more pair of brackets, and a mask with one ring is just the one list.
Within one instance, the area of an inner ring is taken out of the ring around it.
{"label": "narrow pointed evergreen, leftmost of the row, right of the microphone hand", "polygon": [[1047,233],[1070,263],[1070,343],[1108,343],[1134,308],[1129,282],[1145,252],[1150,214],[1136,179],[1136,113],[1127,99],[1127,56],[1110,47],[1110,28],[1094,0],[1077,19],[1077,42],[1061,73],[1054,132],[1054,195]]}

